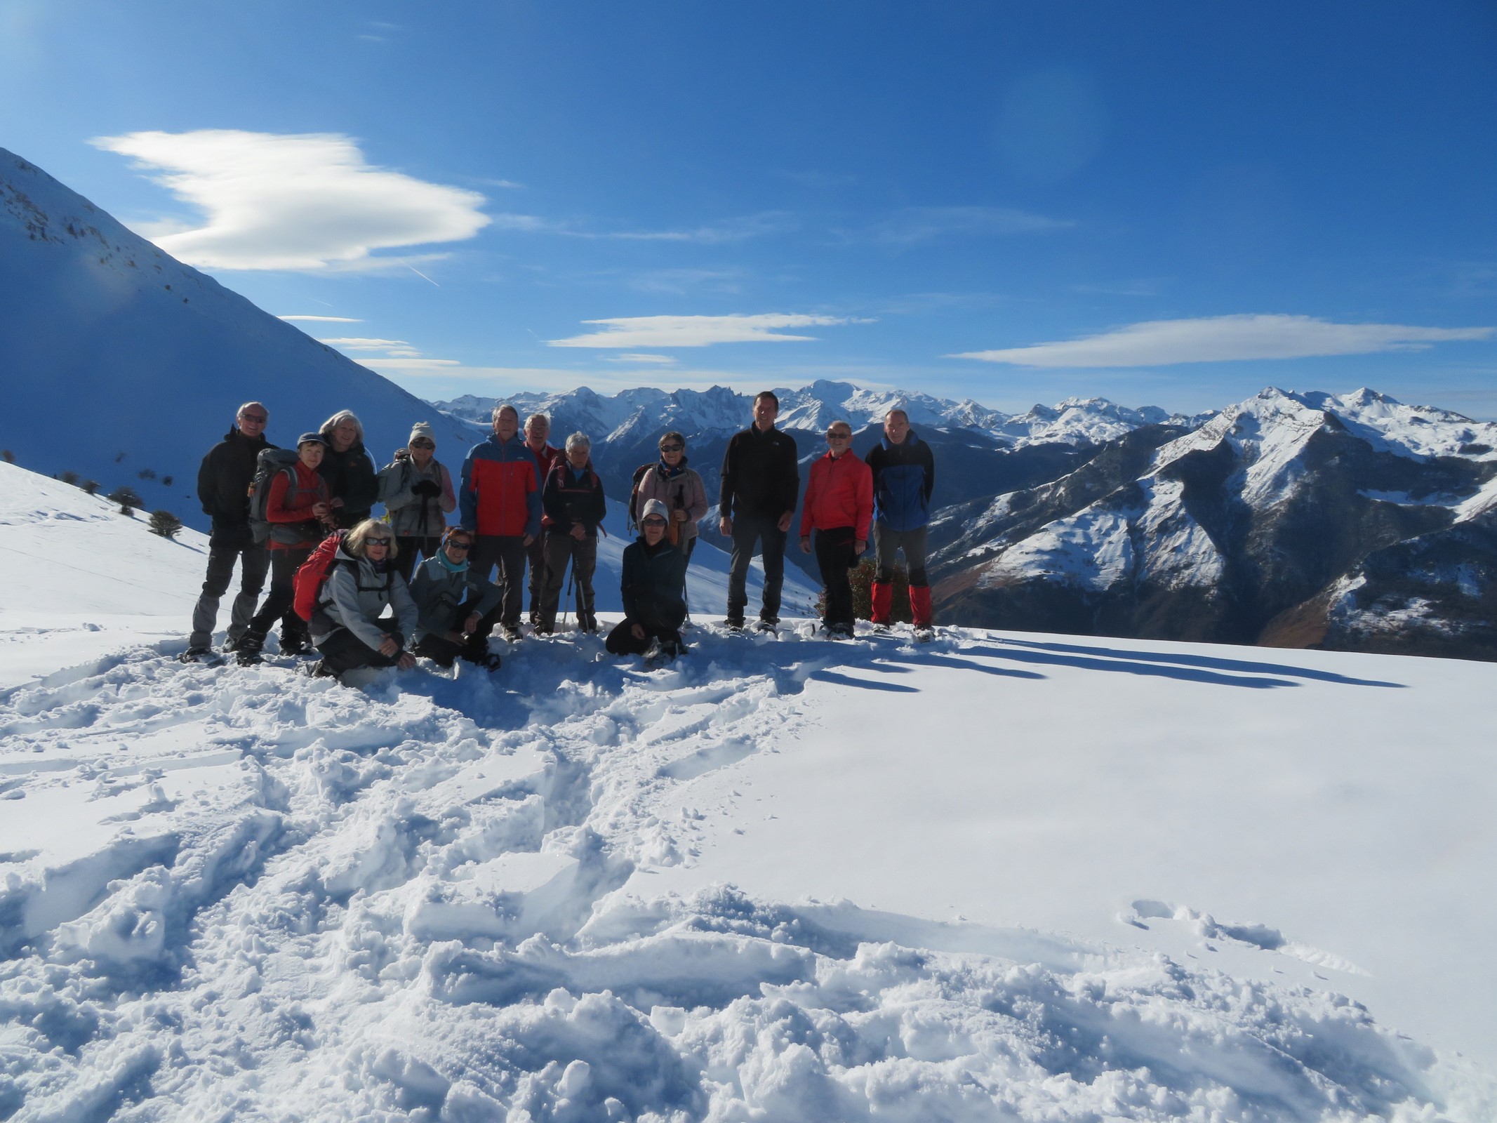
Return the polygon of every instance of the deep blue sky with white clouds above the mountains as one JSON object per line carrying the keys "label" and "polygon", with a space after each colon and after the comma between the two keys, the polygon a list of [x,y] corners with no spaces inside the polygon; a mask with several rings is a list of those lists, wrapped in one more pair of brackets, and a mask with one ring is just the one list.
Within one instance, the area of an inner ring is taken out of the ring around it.
{"label": "deep blue sky with white clouds above the mountains", "polygon": [[1493,418],[1494,58],[1461,0],[0,0],[0,145],[422,397]]}

